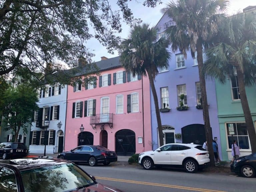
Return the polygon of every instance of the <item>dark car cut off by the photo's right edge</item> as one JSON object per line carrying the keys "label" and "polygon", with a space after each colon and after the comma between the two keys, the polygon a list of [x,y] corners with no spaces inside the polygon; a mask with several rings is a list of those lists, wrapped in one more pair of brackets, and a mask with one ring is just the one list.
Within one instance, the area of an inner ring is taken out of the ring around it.
{"label": "dark car cut off by the photo's right edge", "polygon": [[238,175],[254,177],[256,174],[256,153],[235,159],[230,168]]}

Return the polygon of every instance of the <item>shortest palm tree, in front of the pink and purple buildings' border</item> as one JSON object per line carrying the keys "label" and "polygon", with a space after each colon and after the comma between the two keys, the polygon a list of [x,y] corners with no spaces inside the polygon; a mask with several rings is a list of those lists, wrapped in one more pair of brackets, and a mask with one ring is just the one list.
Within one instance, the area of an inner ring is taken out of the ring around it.
{"label": "shortest palm tree, in front of the pink and purple buildings' border", "polygon": [[158,74],[158,68],[168,67],[171,53],[168,51],[168,40],[163,37],[158,39],[158,35],[159,30],[155,27],[149,28],[149,24],[135,26],[131,29],[128,39],[122,41],[120,61],[133,76],[136,73],[148,75],[155,103],[159,142],[162,146],[163,130],[154,79]]}

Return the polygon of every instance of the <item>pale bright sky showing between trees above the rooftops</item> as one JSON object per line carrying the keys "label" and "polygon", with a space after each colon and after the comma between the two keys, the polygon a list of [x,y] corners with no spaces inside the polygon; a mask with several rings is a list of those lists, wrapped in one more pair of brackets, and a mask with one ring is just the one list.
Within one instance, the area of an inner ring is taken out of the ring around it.
{"label": "pale bright sky showing between trees above the rooftops", "polygon": [[[142,5],[144,0],[132,0],[129,2],[129,8],[132,10],[133,15],[135,18],[140,18],[144,23],[150,24],[150,27],[155,26],[157,22],[161,19],[162,13],[161,9],[166,6],[166,3],[170,2],[170,0],[162,0],[162,4],[157,5],[155,8],[144,7]],[[110,0],[110,2],[115,2],[114,0]],[[235,14],[238,11],[243,12],[243,9],[248,6],[255,6],[256,0],[230,0],[229,1],[229,9],[227,13],[229,15]],[[116,5],[112,5],[114,8]],[[125,23],[122,24],[122,32],[119,34],[121,38],[127,38],[130,27]],[[102,56],[107,58],[116,57],[118,56],[117,51],[114,52],[114,55],[109,54],[107,49],[102,46],[98,40],[90,39],[87,43],[87,48],[89,48],[95,56],[92,58],[92,61],[99,61],[101,60]]]}

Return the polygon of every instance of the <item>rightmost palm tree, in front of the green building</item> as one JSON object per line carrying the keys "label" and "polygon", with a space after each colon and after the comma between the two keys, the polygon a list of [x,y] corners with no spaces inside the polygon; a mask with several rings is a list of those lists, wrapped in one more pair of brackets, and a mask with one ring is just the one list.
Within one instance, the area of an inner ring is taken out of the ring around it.
{"label": "rightmost palm tree, in front of the green building", "polygon": [[256,14],[239,13],[226,19],[217,34],[214,47],[206,51],[206,77],[221,83],[237,76],[239,96],[244,112],[252,152],[256,152],[254,129],[245,86],[255,84],[256,77]]}

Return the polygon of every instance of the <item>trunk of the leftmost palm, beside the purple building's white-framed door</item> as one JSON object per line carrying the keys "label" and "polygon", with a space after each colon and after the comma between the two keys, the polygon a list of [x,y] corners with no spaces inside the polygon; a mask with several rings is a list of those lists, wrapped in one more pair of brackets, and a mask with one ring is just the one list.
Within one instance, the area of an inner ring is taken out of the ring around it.
{"label": "trunk of the leftmost palm, beside the purple building's white-framed door", "polygon": [[[154,103],[155,103],[156,120],[157,120],[158,135],[159,135],[159,144],[160,144],[160,146],[163,146],[164,145],[163,129],[162,129],[160,111],[159,111],[159,106],[158,106],[156,88],[155,88],[154,79],[153,79],[151,70],[150,69],[147,70],[147,73],[148,73],[149,83],[150,83],[150,87],[151,87],[151,90],[152,90]],[[160,147],[160,146],[158,146],[158,147]]]}

